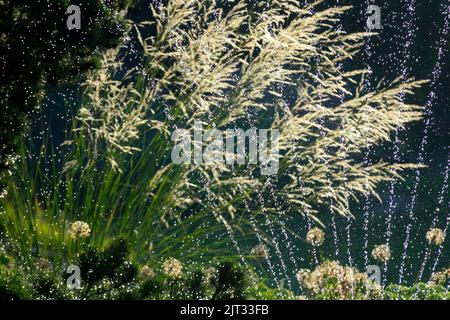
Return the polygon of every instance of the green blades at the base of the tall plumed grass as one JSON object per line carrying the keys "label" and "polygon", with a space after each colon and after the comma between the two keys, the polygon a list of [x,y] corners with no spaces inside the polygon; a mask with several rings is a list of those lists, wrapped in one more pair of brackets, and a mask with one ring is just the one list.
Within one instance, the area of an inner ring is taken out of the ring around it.
{"label": "green blades at the base of the tall plumed grass", "polygon": [[[178,171],[161,176],[154,158],[164,154],[157,156],[152,145],[130,159],[129,170],[119,172],[94,159],[82,134],[73,132],[71,137],[73,143],[63,146],[61,154],[45,146],[35,151],[37,161],[27,156],[31,147],[22,145],[19,150],[15,177],[8,181],[7,197],[0,200],[0,226],[13,248],[10,254],[21,264],[32,267],[33,257],[47,257],[49,252],[62,264],[75,258],[79,247],[102,249],[117,237],[128,240],[138,260],[149,255],[161,260],[232,257],[217,217],[207,207],[188,208],[177,202],[176,184],[183,183],[183,176]],[[71,167],[73,163],[86,165]],[[155,189],[154,183],[160,187]],[[71,224],[77,220],[89,225],[90,236],[71,236]],[[236,221],[239,225],[244,228],[248,221]],[[202,239],[213,235],[219,240],[203,253]]]}

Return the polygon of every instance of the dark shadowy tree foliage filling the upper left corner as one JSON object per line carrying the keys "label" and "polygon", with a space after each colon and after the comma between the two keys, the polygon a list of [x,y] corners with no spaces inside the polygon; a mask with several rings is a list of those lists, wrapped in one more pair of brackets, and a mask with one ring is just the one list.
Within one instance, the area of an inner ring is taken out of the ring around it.
{"label": "dark shadowy tree foliage filling the upper left corner", "polygon": [[[46,82],[71,81],[99,63],[125,32],[118,13],[129,0],[0,1],[0,192]],[[66,26],[70,4],[81,8],[81,29]]]}

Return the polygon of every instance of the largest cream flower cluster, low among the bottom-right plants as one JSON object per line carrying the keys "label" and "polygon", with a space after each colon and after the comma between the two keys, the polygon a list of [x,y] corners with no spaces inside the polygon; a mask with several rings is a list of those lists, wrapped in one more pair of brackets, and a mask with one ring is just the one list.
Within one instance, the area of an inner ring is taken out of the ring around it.
{"label": "largest cream flower cluster, low among the bottom-right plants", "polygon": [[310,271],[301,269],[297,280],[308,293],[327,295],[334,299],[376,298],[381,287],[357,269],[341,266],[337,261],[327,261]]}

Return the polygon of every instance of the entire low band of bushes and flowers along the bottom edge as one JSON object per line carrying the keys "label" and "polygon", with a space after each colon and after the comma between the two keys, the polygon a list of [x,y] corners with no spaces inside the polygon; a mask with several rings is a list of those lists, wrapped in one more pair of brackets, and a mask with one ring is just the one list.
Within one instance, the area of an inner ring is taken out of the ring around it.
{"label": "entire low band of bushes and flowers along the bottom edge", "polygon": [[[151,262],[151,261],[150,261]],[[297,295],[287,289],[271,288],[235,262],[212,266],[185,265],[176,259],[152,262],[138,272],[129,261],[125,240],[117,239],[104,250],[89,246],[70,262],[80,267],[81,288],[68,289],[65,268],[48,260],[36,261],[33,272],[16,267],[11,258],[0,256],[0,299],[119,299],[119,300],[448,300],[443,285],[417,283],[389,285],[382,289],[354,268],[328,261],[313,271],[297,275],[303,287]],[[252,275],[252,276],[249,276]]]}

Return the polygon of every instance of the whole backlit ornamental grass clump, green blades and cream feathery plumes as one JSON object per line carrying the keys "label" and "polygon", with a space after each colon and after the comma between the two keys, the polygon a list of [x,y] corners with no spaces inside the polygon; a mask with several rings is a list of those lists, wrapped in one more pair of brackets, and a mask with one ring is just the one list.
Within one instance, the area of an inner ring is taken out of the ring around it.
{"label": "whole backlit ornamental grass clump, green blades and cream feathery plumes", "polygon": [[[235,231],[257,230],[256,213],[315,217],[327,208],[351,216],[350,199],[377,196],[377,185],[417,167],[356,159],[421,118],[422,108],[405,101],[423,82],[366,92],[366,71],[341,66],[370,34],[334,27],[349,7],[318,5],[152,6],[152,21],[131,31],[142,66],[126,70],[120,51],[111,51],[86,81],[61,168],[47,174],[22,160],[22,180],[3,203],[14,246],[74,252],[80,243],[67,236],[68,225],[80,220],[91,228],[85,241],[125,234],[142,259],[207,258]],[[204,130],[278,129],[278,174],[262,176],[256,165],[174,164],[171,133],[192,131],[195,122]],[[206,239],[223,240],[204,253]]]}

